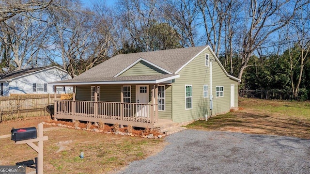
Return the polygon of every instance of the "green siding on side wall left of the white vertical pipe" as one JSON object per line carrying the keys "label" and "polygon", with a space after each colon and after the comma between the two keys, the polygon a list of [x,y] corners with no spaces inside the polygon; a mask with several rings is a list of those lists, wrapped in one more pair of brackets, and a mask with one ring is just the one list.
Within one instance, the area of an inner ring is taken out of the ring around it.
{"label": "green siding on side wall left of the white vertical pipe", "polygon": [[[172,84],[173,122],[187,122],[203,118],[205,114],[210,115],[209,98],[203,98],[203,85],[209,85],[210,88],[210,67],[205,66],[206,53],[212,58],[212,54],[206,49],[178,73],[180,78],[175,79]],[[185,106],[186,85],[192,85],[192,109],[187,110]]]}

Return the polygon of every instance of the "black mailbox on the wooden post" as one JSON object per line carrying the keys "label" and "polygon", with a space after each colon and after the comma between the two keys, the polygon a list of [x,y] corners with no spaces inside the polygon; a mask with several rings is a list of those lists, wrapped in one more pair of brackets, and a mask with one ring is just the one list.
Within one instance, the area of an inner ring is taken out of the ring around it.
{"label": "black mailbox on the wooden post", "polygon": [[11,130],[11,140],[21,141],[37,138],[37,129],[35,127],[17,128]]}

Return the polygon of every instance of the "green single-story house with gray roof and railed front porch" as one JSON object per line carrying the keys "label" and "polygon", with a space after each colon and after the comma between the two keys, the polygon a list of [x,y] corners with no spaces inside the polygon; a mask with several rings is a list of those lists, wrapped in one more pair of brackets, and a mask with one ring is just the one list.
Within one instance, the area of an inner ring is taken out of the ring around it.
{"label": "green single-story house with gray roof and railed front porch", "polygon": [[74,79],[72,101],[55,118],[156,127],[188,123],[238,107],[238,82],[209,46],[119,54]]}

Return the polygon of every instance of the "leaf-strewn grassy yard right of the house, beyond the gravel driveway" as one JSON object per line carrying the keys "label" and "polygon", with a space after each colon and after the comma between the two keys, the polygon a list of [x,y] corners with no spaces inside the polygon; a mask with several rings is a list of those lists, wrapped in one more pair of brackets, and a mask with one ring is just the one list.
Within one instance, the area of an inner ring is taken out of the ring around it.
{"label": "leaf-strewn grassy yard right of the house, beyond the gravel driveway", "polygon": [[310,102],[241,98],[239,111],[197,121],[187,128],[310,139]]}

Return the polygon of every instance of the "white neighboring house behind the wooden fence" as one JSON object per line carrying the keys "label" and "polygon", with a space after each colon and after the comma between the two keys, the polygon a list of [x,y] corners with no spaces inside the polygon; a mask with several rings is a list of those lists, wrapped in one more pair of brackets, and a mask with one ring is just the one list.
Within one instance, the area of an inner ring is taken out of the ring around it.
{"label": "white neighboring house behind the wooden fence", "polygon": [[[10,94],[54,94],[48,83],[71,79],[67,71],[57,66],[21,69],[0,74],[0,96]],[[72,92],[72,87],[58,86],[58,94]]]}

